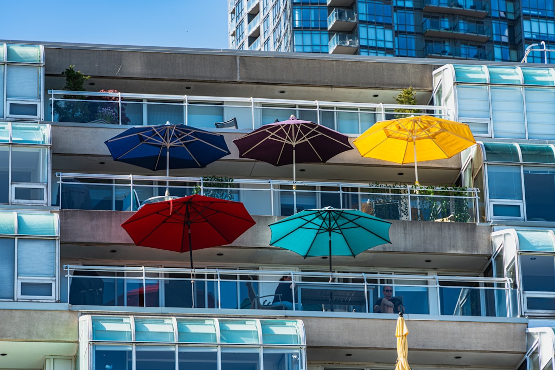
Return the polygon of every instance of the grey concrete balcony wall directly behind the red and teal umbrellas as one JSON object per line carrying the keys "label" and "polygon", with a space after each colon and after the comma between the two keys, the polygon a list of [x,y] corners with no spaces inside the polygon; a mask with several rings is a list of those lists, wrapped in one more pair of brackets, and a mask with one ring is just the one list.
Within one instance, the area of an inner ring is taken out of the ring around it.
{"label": "grey concrete balcony wall directly behind the red and teal umbrellas", "polygon": [[[60,211],[60,244],[63,260],[145,260],[186,266],[188,254],[137,247],[120,225],[132,215],[124,211]],[[256,225],[233,244],[194,251],[194,261],[233,266],[307,265],[326,268],[327,260],[305,260],[291,251],[269,246],[269,224],[282,217],[254,216]],[[82,227],[88,225],[88,227]],[[491,255],[491,226],[460,222],[393,221],[392,244],[374,247],[352,257],[335,257],[334,266],[443,268],[481,272]],[[116,252],[110,252],[115,250]],[[430,262],[426,262],[430,261]]]}

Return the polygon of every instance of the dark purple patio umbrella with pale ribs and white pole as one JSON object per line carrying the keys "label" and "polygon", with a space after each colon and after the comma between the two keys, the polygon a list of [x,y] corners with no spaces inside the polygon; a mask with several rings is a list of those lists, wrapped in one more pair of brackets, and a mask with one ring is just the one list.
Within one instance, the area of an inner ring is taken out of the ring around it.
{"label": "dark purple patio umbrella with pale ribs and white pole", "polygon": [[[261,126],[233,140],[241,158],[258,159],[274,166],[293,165],[293,190],[296,189],[297,163],[324,163],[333,156],[353,149],[349,137],[326,126],[290,119]],[[296,213],[297,200],[293,192]]]}

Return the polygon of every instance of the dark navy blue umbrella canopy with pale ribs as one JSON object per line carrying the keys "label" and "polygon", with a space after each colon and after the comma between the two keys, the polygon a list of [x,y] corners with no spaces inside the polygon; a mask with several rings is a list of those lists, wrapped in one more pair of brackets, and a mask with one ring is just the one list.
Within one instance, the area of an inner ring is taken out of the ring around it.
{"label": "dark navy blue umbrella canopy with pale ribs", "polygon": [[186,125],[138,126],[104,142],[114,160],[153,171],[204,168],[230,154],[224,136]]}

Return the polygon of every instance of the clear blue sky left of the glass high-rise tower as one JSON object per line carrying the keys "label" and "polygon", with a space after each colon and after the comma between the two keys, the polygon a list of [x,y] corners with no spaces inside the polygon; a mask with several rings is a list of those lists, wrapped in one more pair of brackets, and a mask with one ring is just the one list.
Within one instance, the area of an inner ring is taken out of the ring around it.
{"label": "clear blue sky left of the glass high-rise tower", "polygon": [[228,48],[227,0],[6,0],[0,39]]}

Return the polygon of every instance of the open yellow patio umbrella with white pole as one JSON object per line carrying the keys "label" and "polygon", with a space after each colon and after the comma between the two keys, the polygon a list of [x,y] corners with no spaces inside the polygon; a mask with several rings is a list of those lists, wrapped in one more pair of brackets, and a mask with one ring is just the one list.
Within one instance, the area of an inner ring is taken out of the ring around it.
{"label": "open yellow patio umbrella with white pole", "polygon": [[363,157],[414,163],[419,185],[417,161],[451,158],[476,140],[465,123],[419,115],[376,122],[353,144]]}

